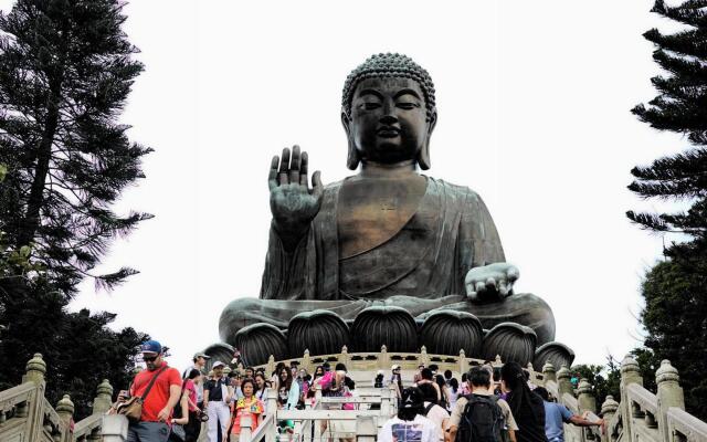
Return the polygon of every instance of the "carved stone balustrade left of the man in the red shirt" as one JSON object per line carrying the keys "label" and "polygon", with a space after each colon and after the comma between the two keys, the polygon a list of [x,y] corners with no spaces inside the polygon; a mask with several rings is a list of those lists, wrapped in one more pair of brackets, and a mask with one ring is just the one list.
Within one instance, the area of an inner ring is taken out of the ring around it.
{"label": "carved stone balustrade left of the man in the red shirt", "polygon": [[104,380],[98,386],[93,414],[74,424],[74,403],[68,394],[56,407],[44,397],[45,376],[46,362],[35,354],[25,366],[22,383],[0,391],[0,441],[101,441],[102,417],[110,408],[110,383]]}

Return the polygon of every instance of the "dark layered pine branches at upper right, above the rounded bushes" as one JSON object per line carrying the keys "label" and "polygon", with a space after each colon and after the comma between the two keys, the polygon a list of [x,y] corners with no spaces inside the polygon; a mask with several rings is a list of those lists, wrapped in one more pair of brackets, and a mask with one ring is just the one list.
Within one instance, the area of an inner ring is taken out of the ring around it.
{"label": "dark layered pine branches at upper right, above the rounded bushes", "polygon": [[688,147],[659,158],[648,167],[636,167],[629,189],[643,198],[693,201],[683,213],[635,213],[629,218],[658,232],[684,232],[700,242],[707,235],[707,0],[689,0],[669,8],[657,0],[652,12],[685,24],[675,34],[652,29],[643,35],[657,49],[653,59],[668,75],[652,83],[659,95],[633,108],[652,127],[687,137]]}

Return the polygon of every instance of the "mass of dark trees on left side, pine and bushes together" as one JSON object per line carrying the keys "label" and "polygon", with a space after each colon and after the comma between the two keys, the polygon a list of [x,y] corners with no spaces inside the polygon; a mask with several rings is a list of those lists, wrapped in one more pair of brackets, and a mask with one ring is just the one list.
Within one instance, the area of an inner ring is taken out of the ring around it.
{"label": "mass of dark trees on left side, pine and bushes together", "polygon": [[110,207],[144,178],[118,123],[143,65],[120,27],[119,0],[18,0],[0,13],[0,390],[21,381],[34,352],[48,364],[46,396],[68,393],[89,413],[102,379],[126,388],[138,346],[115,315],[72,313],[84,277],[112,287],[136,271],[92,271],[112,241],[147,213]]}

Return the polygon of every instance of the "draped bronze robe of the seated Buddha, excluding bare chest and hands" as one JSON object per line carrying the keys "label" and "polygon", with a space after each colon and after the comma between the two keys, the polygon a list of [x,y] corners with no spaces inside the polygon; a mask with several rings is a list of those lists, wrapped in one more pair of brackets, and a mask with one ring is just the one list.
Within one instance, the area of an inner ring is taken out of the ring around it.
{"label": "draped bronze robe of the seated Buddha, excluding bare chest and hands", "polygon": [[419,319],[437,309],[476,315],[485,328],[502,322],[529,326],[538,344],[555,337],[549,306],[532,294],[472,304],[464,278],[472,267],[505,262],[494,221],[467,187],[426,177],[426,190],[398,232],[352,256],[340,256],[338,204],[344,181],[325,188],[321,208],[295,250],[283,246],[274,228],[260,299],[240,298],[220,318],[222,339],[255,323],[287,328],[300,312],[327,309],[350,320],[366,307],[394,305]]}

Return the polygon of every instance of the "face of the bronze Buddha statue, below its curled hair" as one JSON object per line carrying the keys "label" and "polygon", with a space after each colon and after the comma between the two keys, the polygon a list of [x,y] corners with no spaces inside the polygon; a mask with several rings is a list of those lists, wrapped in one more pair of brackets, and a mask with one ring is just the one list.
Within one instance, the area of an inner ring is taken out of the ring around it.
{"label": "face of the bronze Buddha statue, below its curled hair", "polygon": [[434,117],[425,118],[420,85],[404,77],[362,80],[354,92],[350,119],[341,117],[359,158],[380,164],[418,158],[434,128]]}

